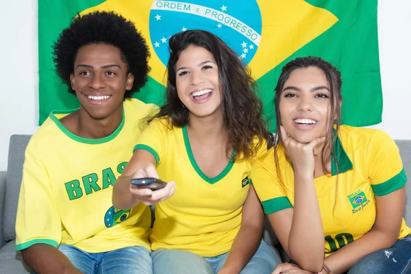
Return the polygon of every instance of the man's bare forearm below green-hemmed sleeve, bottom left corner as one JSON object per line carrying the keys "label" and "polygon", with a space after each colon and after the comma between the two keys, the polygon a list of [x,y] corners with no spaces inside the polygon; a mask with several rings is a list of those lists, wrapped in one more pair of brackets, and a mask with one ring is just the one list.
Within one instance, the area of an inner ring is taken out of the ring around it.
{"label": "man's bare forearm below green-hemmed sleeve, bottom left corner", "polygon": [[70,260],[51,245],[36,244],[21,251],[24,262],[39,274],[82,273],[73,266]]}

